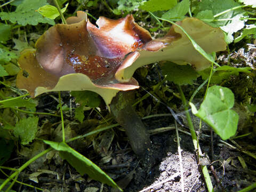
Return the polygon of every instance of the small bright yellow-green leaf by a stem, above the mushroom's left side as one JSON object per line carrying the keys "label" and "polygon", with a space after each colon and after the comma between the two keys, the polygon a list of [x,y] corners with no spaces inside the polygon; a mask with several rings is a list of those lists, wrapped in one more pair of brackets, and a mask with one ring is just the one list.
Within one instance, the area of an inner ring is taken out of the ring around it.
{"label": "small bright yellow-green leaf by a stem, above the mushroom's left side", "polygon": [[[68,7],[68,3],[64,8],[61,9],[61,12],[64,13]],[[57,9],[57,7],[52,6],[52,5],[44,5],[40,7],[38,10],[38,13],[42,14],[44,17],[49,18],[49,19],[55,19],[57,18],[60,13]]]}

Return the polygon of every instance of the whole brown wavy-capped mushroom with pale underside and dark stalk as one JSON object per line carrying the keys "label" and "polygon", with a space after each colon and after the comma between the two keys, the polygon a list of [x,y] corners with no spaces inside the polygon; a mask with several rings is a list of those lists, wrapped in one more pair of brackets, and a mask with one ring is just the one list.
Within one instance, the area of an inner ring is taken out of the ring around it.
{"label": "whole brown wavy-capped mushroom with pale underside and dark stalk", "polygon": [[[201,70],[210,65],[209,61],[176,26],[164,37],[153,40],[132,15],[117,20],[100,17],[97,27],[87,20],[85,12],[78,11],[77,17],[68,18],[67,23],[45,31],[36,42],[36,50],[23,52],[19,58],[23,70],[17,76],[17,86],[29,91],[31,97],[50,91],[97,92],[126,130],[134,152],[143,157],[150,139],[131,106],[133,94],[129,90],[139,87],[132,77],[135,69],[169,60],[182,65],[190,63]],[[207,53],[226,49],[219,28],[195,18],[178,24]],[[25,71],[28,76],[24,76]]]}

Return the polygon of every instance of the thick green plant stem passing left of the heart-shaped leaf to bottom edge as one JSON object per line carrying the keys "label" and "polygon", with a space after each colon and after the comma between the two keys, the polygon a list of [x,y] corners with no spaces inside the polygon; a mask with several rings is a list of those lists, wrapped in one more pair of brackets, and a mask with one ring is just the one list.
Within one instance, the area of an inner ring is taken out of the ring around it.
{"label": "thick green plant stem passing left of the heart-shaped leaf to bottom edge", "polygon": [[[189,111],[188,111],[187,101],[186,101],[185,95],[184,95],[180,85],[178,85],[178,90],[180,92],[183,107],[185,109],[185,113],[186,113],[186,116],[187,116],[188,126],[189,126],[189,130],[190,130],[190,133],[191,133],[191,137],[192,137],[192,140],[193,140],[194,147],[195,147],[196,151],[198,151],[199,155],[201,155],[202,152],[201,152],[201,149],[199,147],[197,137],[196,137],[196,132],[195,132],[195,129],[194,129],[194,125],[192,123],[192,120],[191,120],[191,117],[190,117],[190,114],[189,114]],[[207,166],[201,165],[201,169],[202,169],[202,172],[203,172],[203,175],[204,175],[204,179],[205,179],[205,182],[206,182],[207,189],[210,192],[212,192],[213,191],[213,186],[212,186],[210,175],[209,175],[208,170],[207,170]]]}

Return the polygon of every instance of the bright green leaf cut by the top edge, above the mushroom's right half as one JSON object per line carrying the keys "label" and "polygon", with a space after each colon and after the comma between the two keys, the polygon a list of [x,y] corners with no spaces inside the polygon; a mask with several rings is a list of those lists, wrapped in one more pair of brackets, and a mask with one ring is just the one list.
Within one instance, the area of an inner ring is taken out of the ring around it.
{"label": "bright green leaf cut by the top edge, above the mushroom's right half", "polygon": [[149,0],[140,6],[145,11],[164,11],[169,10],[177,4],[177,0]]}

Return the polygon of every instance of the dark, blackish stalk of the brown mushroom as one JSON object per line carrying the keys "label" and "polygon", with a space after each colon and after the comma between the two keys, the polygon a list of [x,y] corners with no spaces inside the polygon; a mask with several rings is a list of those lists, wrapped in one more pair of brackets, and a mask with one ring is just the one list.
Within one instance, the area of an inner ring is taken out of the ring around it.
{"label": "dark, blackish stalk of the brown mushroom", "polygon": [[110,110],[117,123],[124,127],[135,154],[143,158],[151,141],[141,119],[133,109],[134,91],[120,91],[110,103]]}

